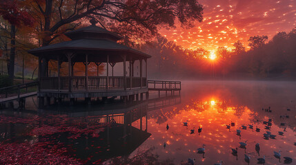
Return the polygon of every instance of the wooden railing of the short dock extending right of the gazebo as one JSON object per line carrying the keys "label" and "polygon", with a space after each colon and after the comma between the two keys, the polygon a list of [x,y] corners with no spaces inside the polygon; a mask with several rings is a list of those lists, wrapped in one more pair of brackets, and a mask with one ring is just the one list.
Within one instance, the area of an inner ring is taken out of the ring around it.
{"label": "wooden railing of the short dock extending right of the gazebo", "polygon": [[148,89],[181,90],[181,81],[148,80]]}

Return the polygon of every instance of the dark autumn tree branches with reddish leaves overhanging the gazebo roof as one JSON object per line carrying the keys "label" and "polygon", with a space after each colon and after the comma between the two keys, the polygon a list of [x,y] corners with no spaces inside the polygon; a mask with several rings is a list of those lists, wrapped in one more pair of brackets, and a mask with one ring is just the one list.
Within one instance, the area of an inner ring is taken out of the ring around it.
{"label": "dark autumn tree branches with reddish leaves overhanging the gazebo roof", "polygon": [[26,0],[28,10],[39,24],[42,45],[95,18],[103,28],[121,34],[157,34],[158,27],[184,27],[202,21],[203,7],[196,0]]}

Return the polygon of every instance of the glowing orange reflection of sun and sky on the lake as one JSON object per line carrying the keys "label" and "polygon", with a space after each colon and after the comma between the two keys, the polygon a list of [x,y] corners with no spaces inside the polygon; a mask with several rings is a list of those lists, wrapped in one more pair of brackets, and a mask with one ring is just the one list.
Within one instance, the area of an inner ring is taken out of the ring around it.
{"label": "glowing orange reflection of sun and sky on the lake", "polygon": [[[197,162],[206,162],[207,164],[214,164],[218,159],[224,159],[225,161],[231,162],[235,160],[235,157],[228,157],[230,148],[236,148],[239,146],[238,142],[245,142],[248,140],[247,151],[252,151],[253,147],[257,142],[264,144],[262,147],[262,153],[268,153],[269,148],[278,150],[278,146],[286,144],[281,141],[266,141],[262,138],[262,133],[265,132],[262,121],[256,122],[257,112],[251,111],[248,107],[241,105],[233,105],[231,102],[225,100],[219,100],[217,98],[208,98],[204,101],[193,100],[189,104],[184,104],[182,109],[173,109],[173,111],[161,110],[158,115],[159,119],[168,117],[165,122],[157,122],[155,118],[149,120],[150,122],[150,141],[148,146],[158,144],[161,147],[157,148],[157,153],[162,158],[174,157],[176,162],[181,162],[182,159],[189,157],[199,157]],[[264,120],[268,120],[268,117],[264,117]],[[184,126],[183,122],[188,122],[188,126]],[[231,126],[230,129],[226,129],[226,125],[230,125],[231,122],[235,122],[235,126]],[[139,124],[139,121],[137,122]],[[166,124],[170,126],[168,131],[166,130]],[[246,129],[241,131],[241,136],[237,135],[236,130],[241,125],[254,124],[262,129],[261,132],[257,133],[253,129]],[[135,124],[134,124],[135,125]],[[197,129],[202,128],[201,133]],[[139,127],[139,125],[138,125]],[[195,133],[190,133],[191,129],[195,129]],[[157,131],[156,131],[157,130]],[[278,126],[273,125],[273,132],[282,131]],[[162,145],[166,142],[168,145],[163,148]],[[206,153],[210,159],[201,158],[202,155],[197,155],[196,148],[206,144]],[[286,144],[288,145],[288,144]],[[250,147],[249,147],[250,146]],[[269,147],[268,147],[269,146]],[[144,146],[146,147],[146,146]],[[239,152],[244,153],[239,148]],[[291,150],[290,152],[293,152]],[[170,154],[168,156],[167,154]],[[261,155],[261,153],[260,153]],[[257,155],[251,155],[257,158]],[[271,159],[276,162],[277,159]],[[238,164],[244,164],[239,162]]]}

